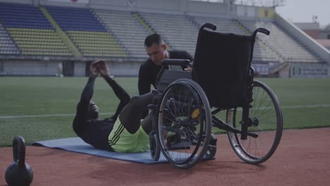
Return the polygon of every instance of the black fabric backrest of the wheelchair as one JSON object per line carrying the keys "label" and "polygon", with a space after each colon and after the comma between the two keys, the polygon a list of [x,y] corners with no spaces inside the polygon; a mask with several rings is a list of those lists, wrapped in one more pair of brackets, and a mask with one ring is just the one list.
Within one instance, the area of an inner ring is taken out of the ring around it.
{"label": "black fabric backrest of the wheelchair", "polygon": [[200,29],[193,80],[204,89],[210,106],[233,108],[245,104],[254,43],[255,36]]}

